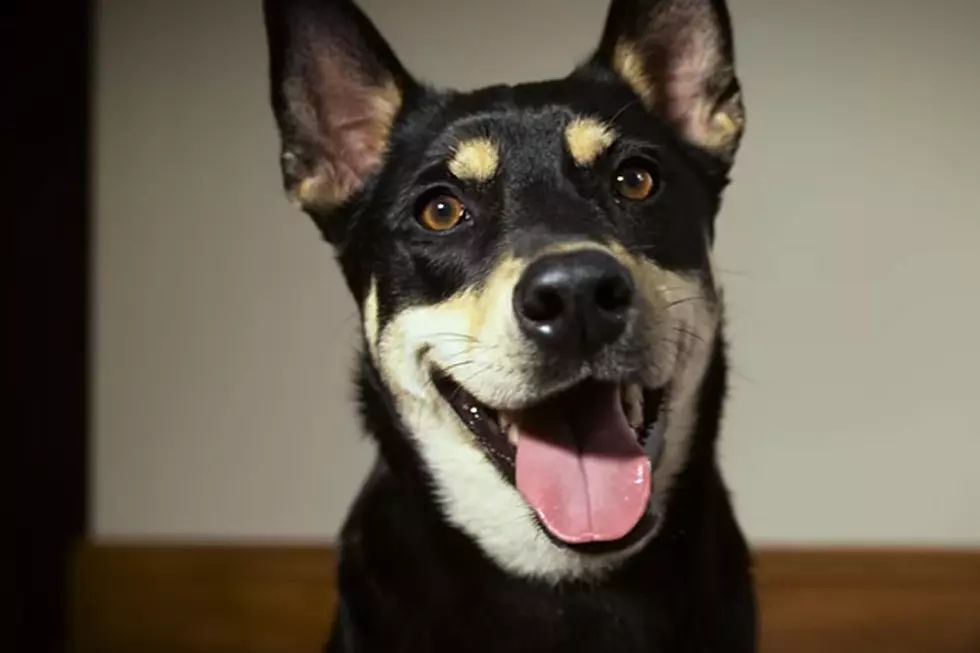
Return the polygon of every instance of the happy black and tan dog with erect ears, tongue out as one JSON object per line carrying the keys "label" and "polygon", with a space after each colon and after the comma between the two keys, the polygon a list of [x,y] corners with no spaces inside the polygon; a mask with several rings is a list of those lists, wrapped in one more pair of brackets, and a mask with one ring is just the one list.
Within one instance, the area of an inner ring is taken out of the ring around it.
{"label": "happy black and tan dog with erect ears, tongue out", "polygon": [[349,0],[263,11],[282,183],[359,307],[378,450],[328,650],[756,650],[715,453],[725,3],[612,0],[567,76],[472,92]]}

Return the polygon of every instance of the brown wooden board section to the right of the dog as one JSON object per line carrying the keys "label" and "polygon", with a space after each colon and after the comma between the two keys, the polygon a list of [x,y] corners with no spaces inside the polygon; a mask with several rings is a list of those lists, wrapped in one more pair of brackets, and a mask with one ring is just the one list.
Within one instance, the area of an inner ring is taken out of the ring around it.
{"label": "brown wooden board section to the right of the dog", "polygon": [[980,652],[980,552],[768,550],[757,558],[766,653]]}

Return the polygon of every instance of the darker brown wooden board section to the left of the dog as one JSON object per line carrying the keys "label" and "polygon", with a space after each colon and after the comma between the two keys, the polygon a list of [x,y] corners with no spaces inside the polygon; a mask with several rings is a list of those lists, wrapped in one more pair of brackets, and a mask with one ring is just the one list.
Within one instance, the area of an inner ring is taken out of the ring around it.
{"label": "darker brown wooden board section to the left of the dog", "polygon": [[336,602],[326,546],[84,546],[77,653],[314,653]]}

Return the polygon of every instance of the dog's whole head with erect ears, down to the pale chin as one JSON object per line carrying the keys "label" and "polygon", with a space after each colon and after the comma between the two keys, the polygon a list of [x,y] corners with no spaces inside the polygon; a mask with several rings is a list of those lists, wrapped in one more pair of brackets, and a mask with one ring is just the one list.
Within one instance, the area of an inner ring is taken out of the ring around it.
{"label": "dog's whole head with erect ears, down to the pale chin", "polygon": [[266,21],[286,189],[337,248],[448,521],[550,580],[637,551],[720,328],[744,125],[723,3],[614,0],[568,77],[470,93],[415,82],[348,2],[268,0]]}

